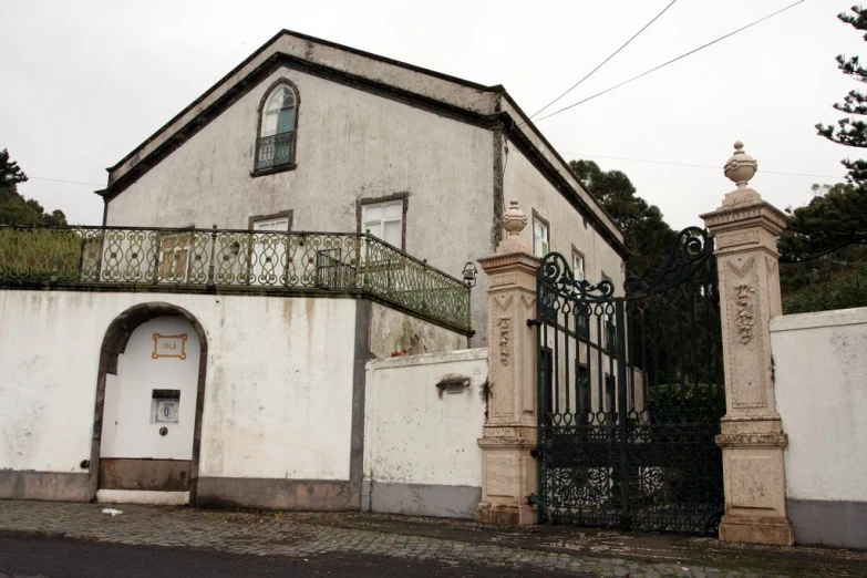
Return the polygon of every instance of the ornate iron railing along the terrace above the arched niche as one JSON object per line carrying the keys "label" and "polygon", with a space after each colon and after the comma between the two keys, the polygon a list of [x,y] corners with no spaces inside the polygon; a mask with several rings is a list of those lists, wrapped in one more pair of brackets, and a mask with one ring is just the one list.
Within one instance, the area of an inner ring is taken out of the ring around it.
{"label": "ornate iron railing along the terrace above the arched niche", "polygon": [[368,296],[468,333],[469,288],[367,234],[0,226],[0,286]]}

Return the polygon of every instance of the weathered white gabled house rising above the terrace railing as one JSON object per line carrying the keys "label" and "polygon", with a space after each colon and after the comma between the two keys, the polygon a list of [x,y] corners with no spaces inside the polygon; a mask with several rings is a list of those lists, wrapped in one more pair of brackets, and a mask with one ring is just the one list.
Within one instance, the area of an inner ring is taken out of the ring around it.
{"label": "weathered white gabled house rising above the terrace railing", "polygon": [[[622,287],[622,236],[503,86],[281,31],[109,168],[104,225],[370,230],[460,276],[509,199]],[[474,345],[486,343],[485,289]]]}

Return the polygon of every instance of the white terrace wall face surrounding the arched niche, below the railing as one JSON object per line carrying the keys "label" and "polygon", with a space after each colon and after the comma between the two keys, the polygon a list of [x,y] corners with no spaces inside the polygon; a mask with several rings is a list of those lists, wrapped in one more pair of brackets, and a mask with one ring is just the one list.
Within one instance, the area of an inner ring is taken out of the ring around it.
{"label": "white terrace wall face surrounding the arched niche, below the railing", "polygon": [[199,476],[348,479],[355,301],[0,291],[0,469],[82,472],[100,347],[165,301],[208,339]]}

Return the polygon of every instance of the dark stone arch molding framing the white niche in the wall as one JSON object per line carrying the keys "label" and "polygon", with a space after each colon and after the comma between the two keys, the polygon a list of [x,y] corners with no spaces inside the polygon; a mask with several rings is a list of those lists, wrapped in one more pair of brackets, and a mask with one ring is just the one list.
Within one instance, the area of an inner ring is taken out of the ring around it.
{"label": "dark stone arch molding framing the white niche in the wall", "polygon": [[198,457],[202,447],[202,415],[205,402],[205,378],[208,360],[208,339],[205,328],[198,319],[184,309],[164,301],[140,303],[126,309],[109,324],[100,348],[100,368],[96,378],[96,400],[93,410],[93,434],[91,438],[91,460],[87,478],[87,497],[96,500],[100,481],[100,447],[102,445],[103,411],[105,409],[106,375],[117,374],[117,359],[126,350],[126,344],[138,326],[157,317],[179,317],[196,331],[199,342],[198,383],[196,386],[196,419],[193,424],[193,460],[189,467],[189,504],[196,503],[198,486]]}

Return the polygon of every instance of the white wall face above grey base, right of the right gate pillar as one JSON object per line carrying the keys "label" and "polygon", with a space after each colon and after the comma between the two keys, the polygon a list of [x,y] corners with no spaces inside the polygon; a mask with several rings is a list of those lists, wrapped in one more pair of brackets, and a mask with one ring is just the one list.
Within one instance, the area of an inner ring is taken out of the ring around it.
{"label": "white wall face above grey base, right of the right gate pillar", "polygon": [[771,320],[791,499],[867,502],[867,308]]}

